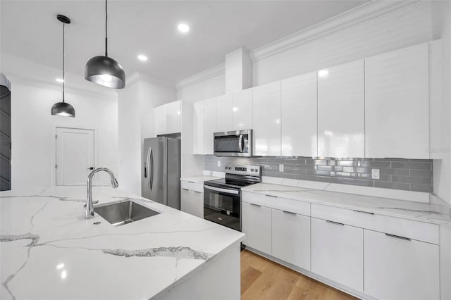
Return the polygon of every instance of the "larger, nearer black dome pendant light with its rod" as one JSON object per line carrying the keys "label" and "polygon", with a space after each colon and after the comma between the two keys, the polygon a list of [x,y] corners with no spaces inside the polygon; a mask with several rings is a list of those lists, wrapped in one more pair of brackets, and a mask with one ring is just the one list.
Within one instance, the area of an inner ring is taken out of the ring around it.
{"label": "larger, nearer black dome pendant light with its rod", "polygon": [[108,57],[108,0],[105,0],[105,56],[95,56],[86,63],[85,79],[90,82],[112,87],[113,89],[123,89],[125,87],[125,72],[117,61]]}

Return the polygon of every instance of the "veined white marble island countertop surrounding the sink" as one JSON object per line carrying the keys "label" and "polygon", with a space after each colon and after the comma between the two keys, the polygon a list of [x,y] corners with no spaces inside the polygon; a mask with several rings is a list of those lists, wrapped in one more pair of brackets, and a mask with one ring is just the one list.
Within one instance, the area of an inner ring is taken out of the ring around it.
{"label": "veined white marble island countertop surrounding the sink", "polygon": [[160,214],[118,227],[97,213],[86,220],[86,187],[0,197],[0,299],[149,299],[245,237],[111,187],[93,187],[93,199]]}

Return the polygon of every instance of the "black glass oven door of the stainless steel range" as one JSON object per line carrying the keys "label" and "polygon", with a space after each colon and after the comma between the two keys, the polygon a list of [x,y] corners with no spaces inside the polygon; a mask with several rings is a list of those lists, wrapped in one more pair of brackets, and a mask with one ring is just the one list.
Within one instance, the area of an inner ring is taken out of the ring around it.
{"label": "black glass oven door of the stainless steel range", "polygon": [[204,185],[204,219],[241,231],[241,192]]}

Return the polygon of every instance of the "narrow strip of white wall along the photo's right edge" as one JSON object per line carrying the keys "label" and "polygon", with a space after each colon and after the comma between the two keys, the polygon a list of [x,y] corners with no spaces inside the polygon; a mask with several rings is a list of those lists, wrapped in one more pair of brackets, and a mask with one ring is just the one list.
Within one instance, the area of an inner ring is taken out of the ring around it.
{"label": "narrow strip of white wall along the photo's right edge", "polygon": [[451,204],[451,2],[434,1],[433,37],[442,39],[442,91],[433,103],[434,193]]}

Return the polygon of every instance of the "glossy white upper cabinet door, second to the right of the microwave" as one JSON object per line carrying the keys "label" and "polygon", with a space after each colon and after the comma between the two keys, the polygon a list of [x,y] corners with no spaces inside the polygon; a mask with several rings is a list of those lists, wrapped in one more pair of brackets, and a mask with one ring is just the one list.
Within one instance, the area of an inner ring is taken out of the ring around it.
{"label": "glossy white upper cabinet door, second to the right of the microwave", "polygon": [[282,80],[282,156],[317,156],[316,72]]}

